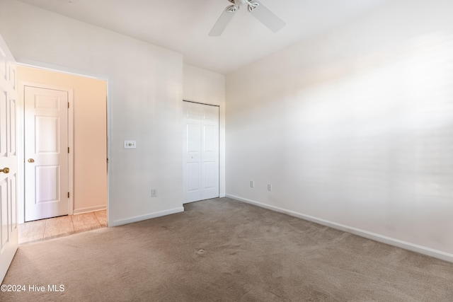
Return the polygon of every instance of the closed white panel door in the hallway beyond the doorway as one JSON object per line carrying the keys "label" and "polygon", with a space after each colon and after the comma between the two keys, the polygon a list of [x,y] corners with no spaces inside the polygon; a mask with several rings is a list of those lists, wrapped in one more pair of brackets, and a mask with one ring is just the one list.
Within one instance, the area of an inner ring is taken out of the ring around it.
{"label": "closed white panel door in the hallway beyond the doorway", "polygon": [[24,87],[25,221],[69,213],[68,91]]}

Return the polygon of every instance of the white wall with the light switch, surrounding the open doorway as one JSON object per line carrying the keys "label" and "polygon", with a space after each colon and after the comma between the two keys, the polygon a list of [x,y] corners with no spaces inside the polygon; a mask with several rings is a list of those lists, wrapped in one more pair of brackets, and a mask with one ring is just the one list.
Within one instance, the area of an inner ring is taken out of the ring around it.
{"label": "white wall with the light switch, surrounding the open doorway", "polygon": [[10,0],[0,34],[18,62],[108,80],[110,226],[183,211],[181,54]]}

